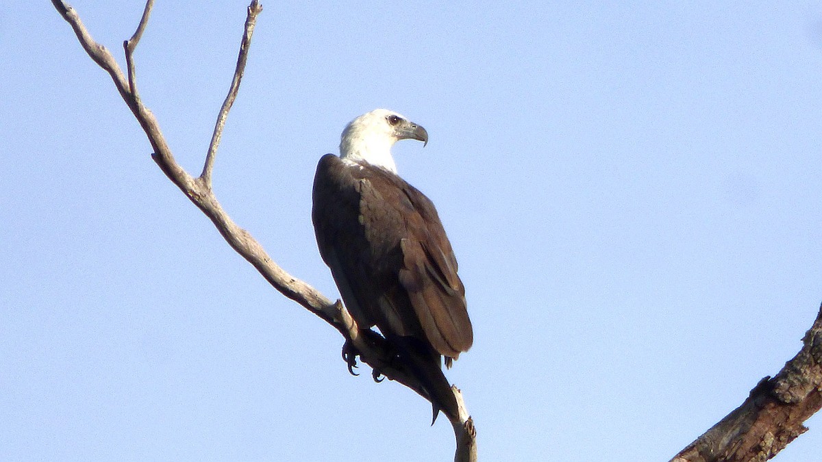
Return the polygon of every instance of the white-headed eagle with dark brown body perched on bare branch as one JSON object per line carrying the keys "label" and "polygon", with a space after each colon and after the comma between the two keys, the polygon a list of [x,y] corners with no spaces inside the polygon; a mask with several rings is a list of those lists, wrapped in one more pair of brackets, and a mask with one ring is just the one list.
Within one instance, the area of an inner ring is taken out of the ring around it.
{"label": "white-headed eagle with dark brown body perched on bare branch", "polygon": [[[451,420],[458,408],[442,372],[473,343],[457,261],[436,208],[397,174],[391,147],[428,132],[375,109],[349,122],[339,157],[322,156],[313,187],[316,243],[361,330],[376,326],[432,402]],[[355,358],[344,347],[349,370]],[[378,371],[375,371],[375,377]]]}

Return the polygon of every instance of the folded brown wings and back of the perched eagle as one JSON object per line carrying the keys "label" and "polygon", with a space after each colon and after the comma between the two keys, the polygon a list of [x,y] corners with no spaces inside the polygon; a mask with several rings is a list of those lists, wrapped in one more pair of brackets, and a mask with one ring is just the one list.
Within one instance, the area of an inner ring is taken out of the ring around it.
{"label": "folded brown wings and back of the perched eagle", "polygon": [[386,170],[326,155],[312,217],[323,260],[363,328],[416,337],[450,358],[470,348],[454,252],[422,192]]}

